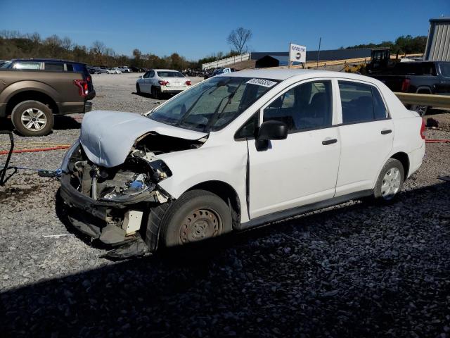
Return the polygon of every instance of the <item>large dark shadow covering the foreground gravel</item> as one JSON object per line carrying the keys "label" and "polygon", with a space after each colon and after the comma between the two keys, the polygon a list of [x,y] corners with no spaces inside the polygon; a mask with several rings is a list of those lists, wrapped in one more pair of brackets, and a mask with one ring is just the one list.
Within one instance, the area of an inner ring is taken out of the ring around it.
{"label": "large dark shadow covering the foreground gravel", "polygon": [[404,192],[392,206],[345,204],[10,290],[0,294],[2,332],[447,337],[449,188]]}

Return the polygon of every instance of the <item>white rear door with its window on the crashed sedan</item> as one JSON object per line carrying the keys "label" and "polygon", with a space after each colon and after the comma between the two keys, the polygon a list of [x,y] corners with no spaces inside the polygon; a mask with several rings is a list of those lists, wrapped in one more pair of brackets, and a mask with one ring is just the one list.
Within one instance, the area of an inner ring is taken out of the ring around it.
{"label": "white rear door with its window on the crashed sedan", "polygon": [[373,84],[338,80],[342,125],[336,196],[373,189],[392,149],[394,124]]}

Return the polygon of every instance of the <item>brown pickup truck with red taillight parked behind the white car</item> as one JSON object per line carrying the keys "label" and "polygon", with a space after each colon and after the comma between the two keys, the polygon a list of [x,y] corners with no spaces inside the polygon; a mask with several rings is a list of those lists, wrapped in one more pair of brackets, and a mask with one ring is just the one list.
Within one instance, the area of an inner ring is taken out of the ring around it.
{"label": "brown pickup truck with red taillight parked behind the white car", "polygon": [[0,118],[11,115],[24,136],[53,128],[53,114],[85,113],[96,95],[84,63],[20,59],[0,66]]}

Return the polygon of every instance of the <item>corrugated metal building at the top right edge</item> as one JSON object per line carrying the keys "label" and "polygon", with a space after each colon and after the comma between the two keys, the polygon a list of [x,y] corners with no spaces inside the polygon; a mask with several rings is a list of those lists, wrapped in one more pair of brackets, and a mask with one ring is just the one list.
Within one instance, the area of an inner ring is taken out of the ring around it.
{"label": "corrugated metal building at the top right edge", "polygon": [[425,60],[450,61],[450,18],[430,19]]}

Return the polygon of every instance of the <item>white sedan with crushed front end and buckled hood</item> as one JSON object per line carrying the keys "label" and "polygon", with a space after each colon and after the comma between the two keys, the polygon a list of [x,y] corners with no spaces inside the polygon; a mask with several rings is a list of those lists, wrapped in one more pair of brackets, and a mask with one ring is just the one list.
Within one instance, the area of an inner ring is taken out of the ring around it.
{"label": "white sedan with crushed front end and buckled hood", "polygon": [[132,256],[349,199],[392,201],[422,163],[424,130],[370,77],[219,75],[146,115],[86,114],[60,192],[77,229]]}

